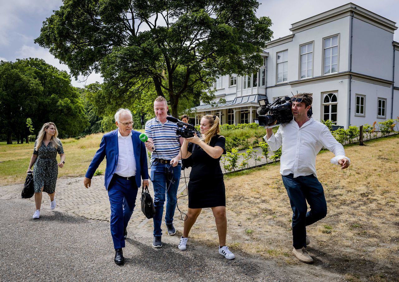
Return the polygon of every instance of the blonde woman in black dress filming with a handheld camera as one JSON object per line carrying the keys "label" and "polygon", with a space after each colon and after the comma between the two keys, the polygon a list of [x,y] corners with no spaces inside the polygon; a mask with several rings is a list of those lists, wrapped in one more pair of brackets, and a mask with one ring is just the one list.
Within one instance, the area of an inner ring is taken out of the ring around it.
{"label": "blonde woman in black dress filming with a handheld camera", "polygon": [[226,195],[220,158],[226,153],[226,139],[219,135],[219,118],[205,115],[201,119],[200,130],[203,140],[194,137],[184,138],[182,158],[192,156],[193,166],[188,182],[188,212],[184,221],[183,236],[179,249],[186,250],[188,233],[197,220],[201,210],[210,207],[215,217],[219,236],[219,254],[227,259],[235,258],[226,246],[227,217]]}

